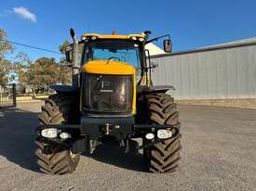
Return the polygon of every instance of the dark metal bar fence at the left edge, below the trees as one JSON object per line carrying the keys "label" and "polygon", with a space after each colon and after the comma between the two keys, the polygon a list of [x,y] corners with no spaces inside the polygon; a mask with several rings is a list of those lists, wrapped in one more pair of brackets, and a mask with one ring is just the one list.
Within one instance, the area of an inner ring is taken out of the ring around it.
{"label": "dark metal bar fence at the left edge, below the trees", "polygon": [[16,84],[0,84],[0,108],[16,107]]}

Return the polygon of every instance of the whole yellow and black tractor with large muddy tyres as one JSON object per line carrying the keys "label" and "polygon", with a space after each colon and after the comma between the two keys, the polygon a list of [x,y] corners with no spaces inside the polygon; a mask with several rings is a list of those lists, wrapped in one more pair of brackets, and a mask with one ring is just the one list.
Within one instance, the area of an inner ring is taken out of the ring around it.
{"label": "whole yellow and black tractor with large muddy tyres", "polygon": [[150,31],[111,35],[85,33],[66,46],[72,85],[52,85],[39,115],[35,155],[42,172],[74,172],[83,152],[92,153],[109,140],[124,152],[133,138],[141,138],[149,172],[174,172],[180,159],[179,113],[171,85],[154,86],[145,45],[163,38],[171,52],[169,35],[149,39]]}

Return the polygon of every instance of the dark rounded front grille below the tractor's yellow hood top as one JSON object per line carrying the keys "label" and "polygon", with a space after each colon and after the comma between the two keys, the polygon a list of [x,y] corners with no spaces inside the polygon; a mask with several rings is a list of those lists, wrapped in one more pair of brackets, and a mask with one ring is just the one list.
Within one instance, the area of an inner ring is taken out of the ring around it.
{"label": "dark rounded front grille below the tractor's yellow hood top", "polygon": [[83,111],[128,114],[132,110],[133,76],[83,74]]}

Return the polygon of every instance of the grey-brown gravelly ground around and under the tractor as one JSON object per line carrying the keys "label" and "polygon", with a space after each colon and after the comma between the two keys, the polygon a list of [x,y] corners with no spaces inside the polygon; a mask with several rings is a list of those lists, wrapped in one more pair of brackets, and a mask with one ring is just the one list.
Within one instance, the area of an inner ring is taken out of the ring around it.
{"label": "grey-brown gravelly ground around and under the tractor", "polygon": [[52,176],[34,158],[41,104],[0,109],[1,191],[256,190],[256,110],[180,106],[182,159],[173,174],[146,172],[141,154],[100,146],[73,174]]}

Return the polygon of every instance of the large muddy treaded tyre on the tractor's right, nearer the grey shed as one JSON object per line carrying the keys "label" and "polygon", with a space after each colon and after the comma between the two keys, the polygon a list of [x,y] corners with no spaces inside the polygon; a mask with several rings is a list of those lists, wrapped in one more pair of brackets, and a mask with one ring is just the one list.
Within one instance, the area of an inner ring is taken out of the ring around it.
{"label": "large muddy treaded tyre on the tractor's right, nearer the grey shed", "polygon": [[[151,94],[146,96],[149,121],[152,124],[177,125],[179,123],[179,112],[176,110],[176,104],[173,97],[163,94]],[[180,133],[175,129],[171,130],[174,137],[157,142],[151,146],[145,147],[144,156],[150,172],[174,172],[178,167],[180,159]],[[144,143],[148,143],[145,139]]]}

